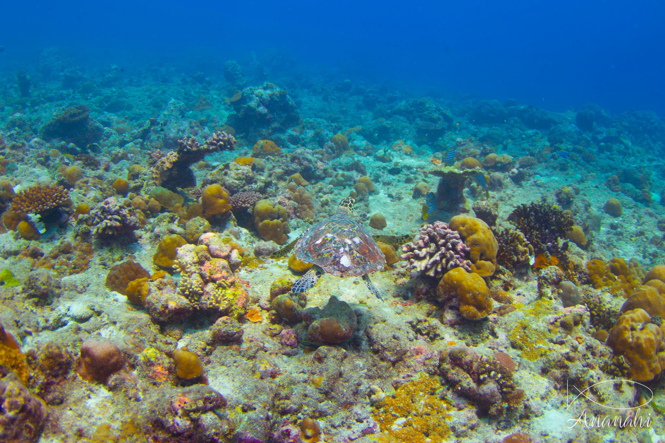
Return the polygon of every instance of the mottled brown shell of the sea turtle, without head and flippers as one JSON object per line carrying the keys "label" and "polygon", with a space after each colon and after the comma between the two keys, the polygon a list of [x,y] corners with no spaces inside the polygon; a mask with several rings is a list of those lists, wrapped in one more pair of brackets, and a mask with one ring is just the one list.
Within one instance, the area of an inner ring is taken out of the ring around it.
{"label": "mottled brown shell of the sea turtle, without head and flippers", "polygon": [[363,276],[386,264],[372,236],[342,214],[309,228],[295,245],[295,256],[338,277]]}

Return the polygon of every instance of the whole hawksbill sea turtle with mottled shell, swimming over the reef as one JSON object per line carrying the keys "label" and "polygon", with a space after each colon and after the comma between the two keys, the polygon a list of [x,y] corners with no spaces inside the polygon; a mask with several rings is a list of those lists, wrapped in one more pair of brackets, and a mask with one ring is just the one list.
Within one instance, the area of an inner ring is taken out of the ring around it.
{"label": "whole hawksbill sea turtle with mottled shell, swimming over the reef", "polygon": [[313,288],[319,277],[329,272],[338,277],[362,276],[370,292],[383,301],[368,274],[382,270],[386,257],[369,232],[350,217],[354,203],[352,197],[342,199],[332,217],[311,226],[302,236],[271,255],[278,258],[295,248],[298,260],[314,265],[295,281],[291,292]]}

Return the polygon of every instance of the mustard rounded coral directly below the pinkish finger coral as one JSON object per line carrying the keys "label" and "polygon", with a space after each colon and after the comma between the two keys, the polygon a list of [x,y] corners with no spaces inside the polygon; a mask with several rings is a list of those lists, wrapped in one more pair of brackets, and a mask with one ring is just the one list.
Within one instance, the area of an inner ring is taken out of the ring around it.
{"label": "mustard rounded coral directly below the pinkish finger coral", "polygon": [[444,275],[436,288],[439,296],[456,294],[460,313],[469,320],[481,319],[492,311],[492,299],[485,280],[478,274],[467,273],[464,268],[452,269]]}

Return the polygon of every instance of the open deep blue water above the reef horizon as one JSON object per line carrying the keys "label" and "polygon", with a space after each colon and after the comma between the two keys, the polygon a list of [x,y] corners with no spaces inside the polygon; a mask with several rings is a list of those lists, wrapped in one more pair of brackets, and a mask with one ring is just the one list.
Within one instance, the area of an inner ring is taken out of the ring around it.
{"label": "open deep blue water above the reef horizon", "polygon": [[27,1],[2,12],[0,70],[30,73],[56,46],[80,66],[214,76],[278,48],[304,78],[665,114],[662,1]]}

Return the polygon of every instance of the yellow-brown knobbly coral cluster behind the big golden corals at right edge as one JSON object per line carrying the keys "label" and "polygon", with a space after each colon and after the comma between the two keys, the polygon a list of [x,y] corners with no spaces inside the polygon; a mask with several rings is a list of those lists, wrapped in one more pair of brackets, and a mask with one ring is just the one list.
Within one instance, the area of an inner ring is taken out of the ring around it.
{"label": "yellow-brown knobbly coral cluster behind the big golden corals at right edge", "polygon": [[594,259],[587,262],[589,283],[596,289],[605,288],[613,295],[622,294],[628,298],[633,290],[642,284],[644,270],[634,259],[624,260],[614,257],[608,262]]}

